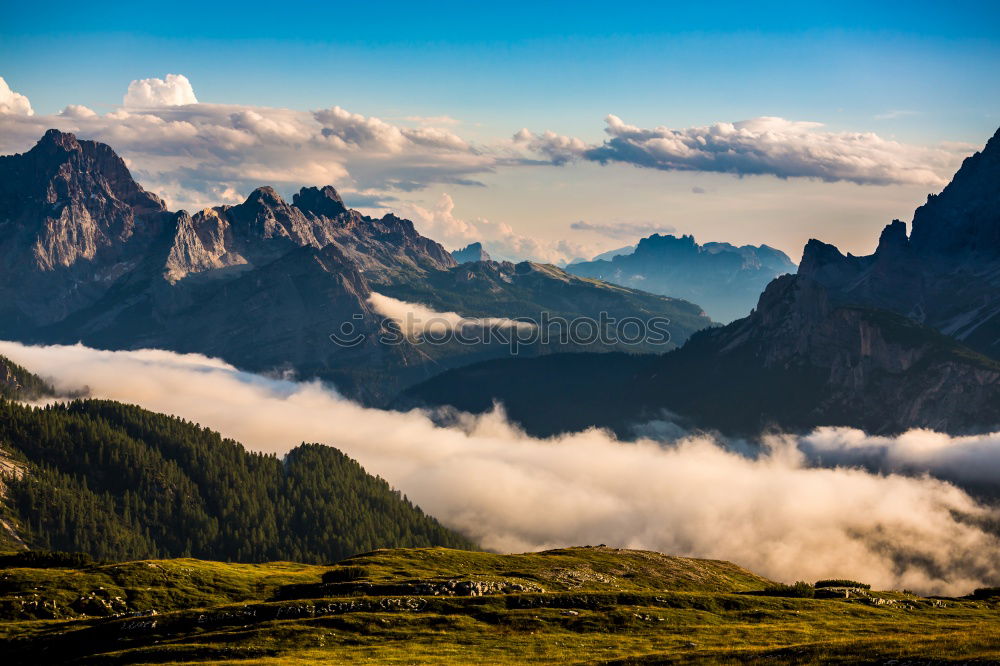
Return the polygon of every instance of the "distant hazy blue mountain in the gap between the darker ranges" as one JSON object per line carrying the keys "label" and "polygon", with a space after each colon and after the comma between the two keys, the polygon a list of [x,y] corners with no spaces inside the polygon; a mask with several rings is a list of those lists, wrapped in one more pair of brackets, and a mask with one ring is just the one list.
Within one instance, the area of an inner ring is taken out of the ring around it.
{"label": "distant hazy blue mountain in the gap between the darker ranges", "polygon": [[693,236],[653,234],[631,253],[573,263],[566,270],[684,298],[704,307],[713,319],[729,322],[746,316],[767,283],[793,272],[795,264],[766,245],[699,245]]}

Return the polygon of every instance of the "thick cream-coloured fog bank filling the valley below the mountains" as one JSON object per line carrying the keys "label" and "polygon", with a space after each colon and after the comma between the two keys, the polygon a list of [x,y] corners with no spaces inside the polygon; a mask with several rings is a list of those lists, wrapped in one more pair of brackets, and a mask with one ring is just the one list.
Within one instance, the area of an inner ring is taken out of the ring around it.
{"label": "thick cream-coloured fog bank filling the valley below the mountains", "polygon": [[983,527],[994,510],[927,476],[810,467],[792,437],[769,438],[757,457],[706,437],[538,440],[500,412],[441,427],[197,355],[11,342],[0,354],[61,389],[181,415],[254,450],[335,445],[500,551],[606,543],[728,559],[784,581],[844,576],[925,593],[1000,582],[1000,543]]}

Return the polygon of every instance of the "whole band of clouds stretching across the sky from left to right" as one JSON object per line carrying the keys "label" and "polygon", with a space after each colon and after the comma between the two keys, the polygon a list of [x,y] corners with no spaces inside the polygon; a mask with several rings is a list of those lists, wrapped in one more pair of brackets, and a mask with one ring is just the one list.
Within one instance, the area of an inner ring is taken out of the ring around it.
{"label": "whole band of clouds stretching across the sky from left to right", "polygon": [[[512,139],[477,143],[457,134],[457,121],[448,116],[392,123],[340,106],[298,111],[200,103],[191,81],[173,73],[132,81],[123,106],[110,113],[69,104],[61,113],[35,116],[28,98],[0,79],[0,152],[27,150],[51,127],[76,132],[112,145],[144,186],[172,207],[192,210],[232,201],[232,193],[245,196],[262,184],[283,191],[335,184],[348,197],[390,201],[394,192],[435,184],[483,186],[482,177],[499,169],[578,160],[937,186],[971,150],[923,148],[774,117],[685,129],[640,128],[614,115],[605,120],[608,138],[602,143],[527,129]],[[525,237],[502,239],[512,248],[530,246]]]}

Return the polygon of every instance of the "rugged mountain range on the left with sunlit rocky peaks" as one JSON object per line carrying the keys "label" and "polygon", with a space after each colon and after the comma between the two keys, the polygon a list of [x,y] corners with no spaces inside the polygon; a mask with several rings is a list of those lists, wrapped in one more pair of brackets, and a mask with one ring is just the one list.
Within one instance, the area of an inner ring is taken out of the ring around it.
{"label": "rugged mountain range on the left with sunlit rocky peaks", "polygon": [[[498,275],[484,290],[486,281],[461,277],[452,255],[412,222],[350,210],[331,186],[302,188],[291,203],[260,187],[239,205],[190,214],[168,211],[111,148],[72,134],[51,130],[32,150],[0,157],[3,338],[211,354],[330,380],[381,404],[443,369],[508,351],[382,344],[374,291],[469,316],[538,317],[574,278],[555,268],[535,274],[516,288]],[[593,295],[580,302],[606,302],[604,286],[578,282]],[[698,306],[637,294],[620,290],[615,302],[632,315],[677,319],[675,341],[710,324]],[[331,334],[343,331],[361,342],[335,344]]]}

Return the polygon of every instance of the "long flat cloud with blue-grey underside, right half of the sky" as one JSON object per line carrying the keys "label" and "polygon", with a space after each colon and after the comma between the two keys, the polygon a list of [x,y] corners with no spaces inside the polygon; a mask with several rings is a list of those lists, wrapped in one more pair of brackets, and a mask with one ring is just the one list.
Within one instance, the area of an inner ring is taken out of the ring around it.
{"label": "long flat cloud with blue-grey underside, right half of the sky", "polygon": [[646,129],[615,115],[608,115],[605,123],[610,138],[599,145],[527,130],[514,135],[514,141],[553,164],[583,159],[662,171],[931,187],[945,184],[968,151],[967,146],[911,146],[874,132],[831,132],[822,129],[822,123],[767,116],[685,129]]}

